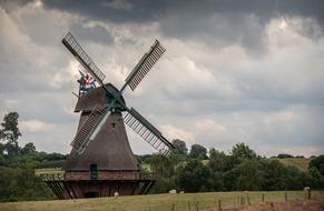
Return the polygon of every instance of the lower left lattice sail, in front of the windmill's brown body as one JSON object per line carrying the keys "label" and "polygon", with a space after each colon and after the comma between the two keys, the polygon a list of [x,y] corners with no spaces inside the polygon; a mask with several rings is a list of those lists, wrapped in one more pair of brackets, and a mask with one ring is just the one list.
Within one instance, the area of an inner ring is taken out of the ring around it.
{"label": "lower left lattice sail, in front of the windmill's brown body", "polygon": [[107,109],[102,109],[101,107],[97,107],[89,114],[88,119],[84,122],[81,128],[79,129],[76,138],[71,142],[71,145],[77,152],[80,154],[85,151],[86,147],[91,141],[90,137],[95,132],[96,128],[99,123],[108,115],[109,112]]}

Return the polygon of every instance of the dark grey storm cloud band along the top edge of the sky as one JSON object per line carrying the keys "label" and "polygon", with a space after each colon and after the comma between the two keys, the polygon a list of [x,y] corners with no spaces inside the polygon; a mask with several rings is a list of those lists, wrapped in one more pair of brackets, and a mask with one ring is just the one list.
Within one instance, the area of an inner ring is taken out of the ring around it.
{"label": "dark grey storm cloud band along the top edge of the sky", "polygon": [[[116,22],[146,22],[158,20],[170,13],[192,14],[193,19],[214,12],[254,13],[263,21],[274,16],[303,16],[324,21],[324,2],[322,0],[203,0],[203,1],[149,1],[149,0],[95,0],[76,1],[47,0],[48,8],[87,14],[99,20]],[[118,7],[117,7],[118,6]]]}

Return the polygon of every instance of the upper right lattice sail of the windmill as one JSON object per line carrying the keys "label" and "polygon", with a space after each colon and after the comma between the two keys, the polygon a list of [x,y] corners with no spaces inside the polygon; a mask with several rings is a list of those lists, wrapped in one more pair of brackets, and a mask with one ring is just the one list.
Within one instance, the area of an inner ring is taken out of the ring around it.
{"label": "upper right lattice sail of the windmill", "polygon": [[165,51],[166,49],[160,46],[158,40],[156,40],[150,50],[143,56],[143,58],[126,79],[126,83],[130,87],[131,90],[136,89],[139,82],[144,79],[144,77],[148,73],[148,71],[153,68],[153,66]]}

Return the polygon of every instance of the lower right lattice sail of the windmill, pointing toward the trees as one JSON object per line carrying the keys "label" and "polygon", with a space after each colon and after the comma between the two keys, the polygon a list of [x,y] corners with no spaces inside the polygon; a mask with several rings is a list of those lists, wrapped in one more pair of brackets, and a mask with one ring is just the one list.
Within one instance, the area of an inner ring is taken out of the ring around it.
{"label": "lower right lattice sail of the windmill, pointing toward the trees", "polygon": [[161,154],[168,155],[174,149],[174,145],[134,108],[128,111],[124,121]]}

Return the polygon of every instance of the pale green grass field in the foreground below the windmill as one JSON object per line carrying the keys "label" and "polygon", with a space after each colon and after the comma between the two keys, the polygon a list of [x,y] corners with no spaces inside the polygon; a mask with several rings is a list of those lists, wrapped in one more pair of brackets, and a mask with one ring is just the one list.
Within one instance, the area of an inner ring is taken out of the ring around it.
{"label": "pale green grass field in the foreground below the windmill", "polygon": [[[265,201],[284,201],[285,192],[209,192],[209,193],[185,193],[185,194],[151,194],[115,198],[97,198],[80,200],[53,200],[32,202],[6,202],[0,203],[1,211],[169,211],[174,207],[176,211],[195,210],[198,205],[204,208],[216,208],[219,200],[223,208],[236,208],[244,199],[245,203],[261,202],[262,194]],[[287,191],[288,200],[304,200],[303,191]],[[248,195],[248,198],[247,198]],[[323,198],[324,191],[313,191],[314,198]]]}

